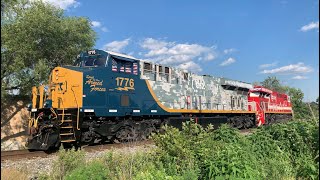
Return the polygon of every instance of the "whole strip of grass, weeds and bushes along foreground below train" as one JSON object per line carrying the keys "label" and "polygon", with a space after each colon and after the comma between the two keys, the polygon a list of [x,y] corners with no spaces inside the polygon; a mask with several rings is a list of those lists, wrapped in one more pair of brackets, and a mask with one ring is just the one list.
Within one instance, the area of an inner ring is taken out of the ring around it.
{"label": "whole strip of grass, weeds and bushes along foreground below train", "polygon": [[258,128],[251,135],[222,125],[183,130],[165,127],[148,152],[109,152],[85,162],[83,152],[62,150],[42,179],[318,179],[319,120]]}

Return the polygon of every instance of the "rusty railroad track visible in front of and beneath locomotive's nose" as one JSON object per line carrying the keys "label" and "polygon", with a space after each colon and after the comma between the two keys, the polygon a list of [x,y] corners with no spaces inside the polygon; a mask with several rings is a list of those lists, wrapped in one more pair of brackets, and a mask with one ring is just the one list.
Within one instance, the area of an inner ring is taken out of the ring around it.
{"label": "rusty railroad track visible in front of and beneath locomotive's nose", "polygon": [[[120,144],[100,144],[95,146],[83,146],[81,147],[82,150],[85,152],[94,152],[94,151],[103,151],[108,149],[121,149],[125,147],[134,147],[134,146],[141,146],[141,145],[148,145],[152,144],[151,140],[146,141],[134,141],[134,142],[127,142],[127,143],[120,143]],[[58,150],[51,150],[51,151],[29,151],[27,149],[24,150],[13,150],[13,151],[1,151],[1,161],[6,160],[20,160],[20,159],[32,159],[36,157],[48,157],[50,155],[55,155]]]}

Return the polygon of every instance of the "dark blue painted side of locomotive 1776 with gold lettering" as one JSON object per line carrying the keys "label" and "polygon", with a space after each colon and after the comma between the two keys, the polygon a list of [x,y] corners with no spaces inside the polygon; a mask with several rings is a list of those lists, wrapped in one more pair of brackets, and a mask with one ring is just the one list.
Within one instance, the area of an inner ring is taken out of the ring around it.
{"label": "dark blue painted side of locomotive 1776 with gold lettering", "polygon": [[[139,67],[137,74],[121,72],[116,58],[123,63],[137,63],[139,60],[111,55],[102,50],[95,50],[96,55],[81,53],[78,59],[80,66],[65,66],[83,72],[83,107],[82,111],[94,110],[96,116],[159,116],[173,115],[158,106],[152,97],[144,79],[140,79]],[[90,58],[105,59],[106,63],[99,67],[84,67]],[[81,65],[82,63],[82,65]],[[117,72],[112,67],[117,66]],[[151,112],[151,110],[156,110]],[[180,113],[174,113],[180,115]]]}

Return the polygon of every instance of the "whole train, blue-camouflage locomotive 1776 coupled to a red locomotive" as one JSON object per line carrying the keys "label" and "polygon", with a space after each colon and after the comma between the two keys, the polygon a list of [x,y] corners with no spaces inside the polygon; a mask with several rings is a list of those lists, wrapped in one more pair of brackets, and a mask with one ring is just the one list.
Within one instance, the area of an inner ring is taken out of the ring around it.
{"label": "whole train, blue-camouflage locomotive 1776 coupled to a red locomotive", "polygon": [[290,97],[104,50],[80,53],[32,88],[28,149],[145,139],[183,121],[250,128],[288,120]]}

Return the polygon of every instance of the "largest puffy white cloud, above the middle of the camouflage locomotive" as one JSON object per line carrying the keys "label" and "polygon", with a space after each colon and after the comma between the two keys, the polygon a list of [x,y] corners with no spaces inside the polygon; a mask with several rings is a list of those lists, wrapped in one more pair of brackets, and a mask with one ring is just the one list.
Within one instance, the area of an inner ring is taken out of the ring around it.
{"label": "largest puffy white cloud, above the middle of the camouflage locomotive", "polygon": [[201,71],[200,66],[194,60],[211,61],[216,58],[215,47],[207,47],[199,44],[177,44],[146,38],[140,46],[147,50],[144,54],[148,60],[156,61],[160,64],[178,66],[191,71]]}

